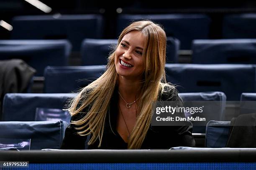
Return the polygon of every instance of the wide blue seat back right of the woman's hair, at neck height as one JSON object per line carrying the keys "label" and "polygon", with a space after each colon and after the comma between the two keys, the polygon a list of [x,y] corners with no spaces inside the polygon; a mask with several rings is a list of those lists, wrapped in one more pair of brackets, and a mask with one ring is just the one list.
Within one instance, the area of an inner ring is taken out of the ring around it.
{"label": "wide blue seat back right of the woman's hair, at neck height", "polygon": [[179,92],[221,91],[239,101],[242,92],[255,92],[253,65],[166,64],[166,80]]}

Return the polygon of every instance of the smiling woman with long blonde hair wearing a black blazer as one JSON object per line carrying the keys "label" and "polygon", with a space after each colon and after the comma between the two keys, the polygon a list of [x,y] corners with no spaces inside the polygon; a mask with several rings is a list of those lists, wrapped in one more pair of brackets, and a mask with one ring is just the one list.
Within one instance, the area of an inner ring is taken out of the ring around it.
{"label": "smiling woman with long blonde hair wearing a black blazer", "polygon": [[[177,101],[165,80],[166,35],[151,21],[123,30],[107,70],[72,101],[61,149],[169,149],[195,146],[192,125],[151,126],[152,102]],[[184,116],[184,115],[183,115]],[[85,144],[86,143],[86,144]]]}

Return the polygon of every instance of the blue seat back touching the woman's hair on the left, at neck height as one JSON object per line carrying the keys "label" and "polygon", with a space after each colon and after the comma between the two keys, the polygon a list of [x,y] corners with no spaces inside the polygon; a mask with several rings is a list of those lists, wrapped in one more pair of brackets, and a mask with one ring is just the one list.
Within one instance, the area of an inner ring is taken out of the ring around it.
{"label": "blue seat back touching the woman's hair on the left, at neck height", "polygon": [[44,72],[45,93],[77,91],[100,77],[105,65],[46,67]]}

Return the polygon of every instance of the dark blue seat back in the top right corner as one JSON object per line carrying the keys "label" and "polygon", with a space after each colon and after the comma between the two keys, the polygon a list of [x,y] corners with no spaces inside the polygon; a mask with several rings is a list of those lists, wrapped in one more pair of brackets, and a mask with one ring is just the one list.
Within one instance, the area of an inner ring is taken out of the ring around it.
{"label": "dark blue seat back in the top right corner", "polygon": [[225,16],[223,38],[256,38],[256,13]]}

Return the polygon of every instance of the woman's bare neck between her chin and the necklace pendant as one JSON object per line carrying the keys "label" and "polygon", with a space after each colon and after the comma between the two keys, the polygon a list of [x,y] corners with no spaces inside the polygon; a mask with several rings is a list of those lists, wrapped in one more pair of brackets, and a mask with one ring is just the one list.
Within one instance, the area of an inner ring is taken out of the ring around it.
{"label": "woman's bare neck between her chin and the necklace pendant", "polygon": [[118,91],[128,103],[135,101],[141,90],[140,80],[131,80],[123,76],[118,77]]}

